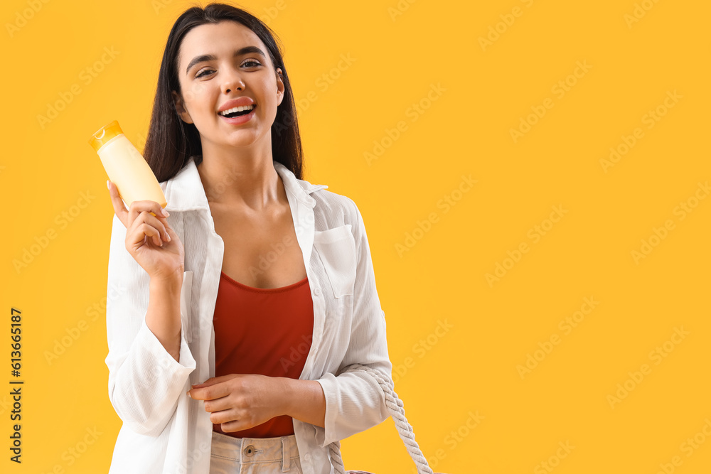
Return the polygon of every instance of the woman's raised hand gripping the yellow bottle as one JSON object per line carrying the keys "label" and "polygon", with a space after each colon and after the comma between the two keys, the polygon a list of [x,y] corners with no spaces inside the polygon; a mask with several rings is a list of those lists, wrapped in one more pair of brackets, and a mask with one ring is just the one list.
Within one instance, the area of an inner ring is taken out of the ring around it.
{"label": "woman's raised hand gripping the yellow bottle", "polygon": [[134,201],[126,209],[116,185],[110,180],[108,185],[114,212],[126,227],[126,249],[129,254],[149,274],[151,280],[183,281],[183,242],[168,224],[161,205],[155,201],[142,200]]}

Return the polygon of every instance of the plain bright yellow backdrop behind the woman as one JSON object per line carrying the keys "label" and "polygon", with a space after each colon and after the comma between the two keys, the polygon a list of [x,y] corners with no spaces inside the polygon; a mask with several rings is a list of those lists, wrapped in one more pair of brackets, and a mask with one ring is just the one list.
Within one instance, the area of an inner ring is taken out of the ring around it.
{"label": "plain bright yellow backdrop behind the woman", "polygon": [[[2,472],[109,467],[121,425],[104,363],[113,210],[87,139],[116,119],[142,149],[166,38],[192,5],[3,2]],[[308,105],[299,110],[304,178],[363,214],[395,389],[435,471],[710,472],[711,199],[694,200],[711,180],[707,2],[240,6],[277,32],[296,99]],[[494,41],[482,46],[487,36]],[[87,83],[82,70],[104,48],[118,53]],[[354,60],[339,69],[342,55]],[[324,87],[323,75],[338,77]],[[554,87],[566,80],[561,97]],[[38,116],[73,85],[81,92],[41,126]],[[433,85],[441,94],[428,97]],[[544,103],[552,107],[514,140],[511,129]],[[656,110],[663,116],[649,122]],[[609,149],[624,150],[637,128],[642,138],[605,169]],[[366,151],[382,153],[368,163]],[[457,193],[462,175],[476,183]],[[80,208],[82,193],[92,198]],[[447,208],[444,196],[458,200]],[[684,218],[682,203],[691,210]],[[555,223],[546,221],[553,206],[567,211]],[[63,212],[71,222],[58,219]],[[14,261],[51,230],[18,271]],[[419,238],[406,241],[407,232]],[[635,259],[642,240],[655,245]],[[414,245],[398,252],[406,242]],[[528,252],[514,262],[522,243]],[[490,284],[497,264],[508,269]],[[584,298],[598,302],[592,311]],[[21,465],[9,461],[13,307],[23,318]],[[566,333],[561,321],[582,307],[588,314]],[[49,363],[46,353],[82,320]],[[675,328],[688,335],[673,336]],[[522,378],[528,355],[540,360]],[[611,402],[618,384],[630,390]],[[70,455],[87,430],[100,435]],[[343,457],[349,469],[413,470],[392,419],[344,441]]]}

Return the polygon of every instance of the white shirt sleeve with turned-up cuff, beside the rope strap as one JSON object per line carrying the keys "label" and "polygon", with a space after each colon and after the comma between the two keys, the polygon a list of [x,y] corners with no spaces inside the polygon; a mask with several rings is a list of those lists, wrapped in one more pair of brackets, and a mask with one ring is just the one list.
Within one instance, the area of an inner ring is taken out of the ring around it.
{"label": "white shirt sleeve with turned-up cuff, beside the rope strap", "polygon": [[351,364],[378,370],[392,387],[392,363],[387,355],[385,313],[380,308],[375,289],[375,273],[370,257],[368,237],[360,210],[348,198],[353,208],[356,271],[353,289],[353,326],[348,349],[336,375],[326,373],[318,382],[326,396],[324,429],[316,430],[321,447],[365,431],[385,421],[390,414],[385,394],[378,381],[368,372],[343,372]]}

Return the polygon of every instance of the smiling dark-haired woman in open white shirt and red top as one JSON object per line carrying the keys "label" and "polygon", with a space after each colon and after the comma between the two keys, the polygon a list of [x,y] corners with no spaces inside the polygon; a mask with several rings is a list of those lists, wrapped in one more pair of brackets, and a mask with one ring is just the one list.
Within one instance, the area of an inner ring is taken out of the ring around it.
{"label": "smiling dark-haired woman in open white shirt and red top", "polygon": [[167,212],[107,183],[109,474],[333,473],[329,445],[388,416],[385,313],[355,203],[301,180],[267,26],[177,19],[144,156]]}

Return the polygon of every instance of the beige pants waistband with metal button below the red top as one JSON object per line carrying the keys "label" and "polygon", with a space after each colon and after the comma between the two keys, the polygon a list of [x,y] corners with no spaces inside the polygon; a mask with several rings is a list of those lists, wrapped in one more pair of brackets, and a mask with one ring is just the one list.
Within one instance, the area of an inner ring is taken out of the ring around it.
{"label": "beige pants waistband with metal button below the red top", "polygon": [[287,472],[291,460],[299,458],[299,449],[293,434],[277,438],[235,438],[213,431],[211,455],[240,464],[281,461],[282,471]]}

